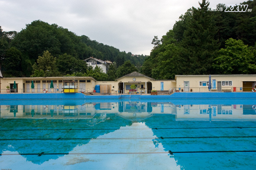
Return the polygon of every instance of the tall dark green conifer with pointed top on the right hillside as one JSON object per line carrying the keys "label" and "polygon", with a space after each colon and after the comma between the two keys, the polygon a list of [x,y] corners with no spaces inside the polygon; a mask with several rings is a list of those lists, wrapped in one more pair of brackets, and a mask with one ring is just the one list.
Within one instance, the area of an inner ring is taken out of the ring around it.
{"label": "tall dark green conifer with pointed top on the right hillside", "polygon": [[177,74],[213,74],[212,63],[219,48],[214,17],[208,11],[209,2],[202,0],[200,8],[192,7],[186,30],[180,42]]}

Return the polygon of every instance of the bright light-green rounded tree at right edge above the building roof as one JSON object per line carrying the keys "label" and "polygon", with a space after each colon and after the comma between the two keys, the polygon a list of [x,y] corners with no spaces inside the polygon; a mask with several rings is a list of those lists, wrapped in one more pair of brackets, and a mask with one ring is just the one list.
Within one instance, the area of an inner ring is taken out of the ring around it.
{"label": "bright light-green rounded tree at right edge above the building roof", "polygon": [[220,49],[218,57],[215,58],[214,68],[220,74],[255,74],[256,65],[254,55],[244,45],[242,40],[229,38],[226,41],[226,48]]}

